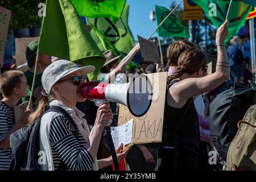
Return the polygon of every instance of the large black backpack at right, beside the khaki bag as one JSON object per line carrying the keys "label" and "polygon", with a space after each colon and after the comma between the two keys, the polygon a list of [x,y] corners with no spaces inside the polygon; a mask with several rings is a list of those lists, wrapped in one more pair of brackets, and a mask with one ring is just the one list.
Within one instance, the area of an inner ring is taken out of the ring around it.
{"label": "large black backpack at right, beside the khaki bag", "polygon": [[223,160],[237,134],[237,123],[253,105],[255,89],[234,82],[228,90],[217,95],[210,103],[210,136]]}

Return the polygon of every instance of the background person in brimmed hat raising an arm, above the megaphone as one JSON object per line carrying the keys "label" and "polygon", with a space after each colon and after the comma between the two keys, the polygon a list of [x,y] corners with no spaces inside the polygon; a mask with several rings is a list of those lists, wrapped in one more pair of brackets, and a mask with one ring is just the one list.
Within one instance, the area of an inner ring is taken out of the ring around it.
{"label": "background person in brimmed hat raising an arm, above the megaphone", "polygon": [[[101,73],[105,73],[101,75],[101,81],[104,82],[113,82],[115,84],[121,83],[123,78],[123,73],[127,65],[133,59],[135,54],[139,51],[141,47],[137,44],[131,51],[122,59],[119,63],[119,58],[121,56],[115,56],[112,50],[108,50],[104,52],[106,57],[105,64],[101,68]],[[121,73],[121,74],[119,74]],[[115,78],[115,80],[110,80],[110,78]]]}

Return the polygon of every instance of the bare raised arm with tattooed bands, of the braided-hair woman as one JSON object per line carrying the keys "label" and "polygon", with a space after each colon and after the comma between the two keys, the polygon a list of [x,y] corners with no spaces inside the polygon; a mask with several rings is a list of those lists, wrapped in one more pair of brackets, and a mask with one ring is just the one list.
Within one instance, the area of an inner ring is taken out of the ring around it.
{"label": "bare raised arm with tattooed bands, of the braided-hair woman", "polygon": [[216,72],[199,78],[184,79],[170,88],[170,94],[177,102],[185,102],[188,98],[213,90],[229,79],[229,59],[225,47],[228,36],[228,21],[220,26],[216,33],[217,64]]}

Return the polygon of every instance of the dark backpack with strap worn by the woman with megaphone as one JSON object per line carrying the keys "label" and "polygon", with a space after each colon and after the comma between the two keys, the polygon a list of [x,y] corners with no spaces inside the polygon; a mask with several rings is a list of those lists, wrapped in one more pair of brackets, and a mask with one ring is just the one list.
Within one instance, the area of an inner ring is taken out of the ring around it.
{"label": "dark backpack with strap worn by the woman with megaphone", "polygon": [[[59,106],[51,106],[44,113],[54,111],[64,115],[74,127],[75,131],[72,131],[78,140],[78,129],[71,118],[71,116]],[[9,171],[39,171],[38,164],[38,152],[39,152],[39,130],[40,130],[40,121],[42,116],[37,119],[30,126],[23,127],[15,131],[10,135],[11,150],[13,151],[14,157],[11,160]],[[57,170],[67,170],[68,167],[61,162]]]}

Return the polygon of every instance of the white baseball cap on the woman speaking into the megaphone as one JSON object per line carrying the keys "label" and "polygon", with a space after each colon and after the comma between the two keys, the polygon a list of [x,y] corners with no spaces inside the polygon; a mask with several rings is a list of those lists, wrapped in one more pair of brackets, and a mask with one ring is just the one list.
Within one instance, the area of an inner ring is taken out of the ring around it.
{"label": "white baseball cap on the woman speaking into the megaphone", "polygon": [[79,67],[79,65],[68,60],[57,60],[44,69],[42,84],[46,94],[50,94],[52,86],[60,78],[63,78],[73,72],[81,71],[82,75],[87,75],[95,70],[93,66]]}

